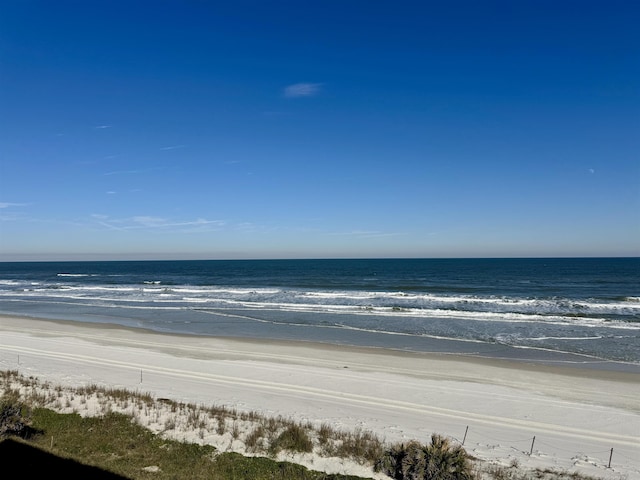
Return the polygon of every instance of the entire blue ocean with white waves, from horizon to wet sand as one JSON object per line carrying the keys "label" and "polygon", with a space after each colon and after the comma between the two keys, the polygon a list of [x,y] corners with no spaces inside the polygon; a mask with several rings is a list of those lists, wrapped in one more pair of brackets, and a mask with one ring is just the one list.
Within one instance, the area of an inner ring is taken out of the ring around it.
{"label": "entire blue ocean with white waves, from horizon to wet sand", "polygon": [[0,314],[636,366],[640,258],[5,262]]}

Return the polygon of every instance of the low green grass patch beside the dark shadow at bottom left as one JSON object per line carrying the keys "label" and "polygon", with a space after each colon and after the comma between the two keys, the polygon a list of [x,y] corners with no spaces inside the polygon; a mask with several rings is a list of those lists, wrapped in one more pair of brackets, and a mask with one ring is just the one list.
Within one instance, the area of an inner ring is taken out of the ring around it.
{"label": "low green grass patch beside the dark shadow at bottom left", "polygon": [[131,479],[309,479],[347,480],[268,458],[218,454],[213,447],[171,441],[117,413],[82,418],[37,408],[33,424],[43,432],[29,444]]}

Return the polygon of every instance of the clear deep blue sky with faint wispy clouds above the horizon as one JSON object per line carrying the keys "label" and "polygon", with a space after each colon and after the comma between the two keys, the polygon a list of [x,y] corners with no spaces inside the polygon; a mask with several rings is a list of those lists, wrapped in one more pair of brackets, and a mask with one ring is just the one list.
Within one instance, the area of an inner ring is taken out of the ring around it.
{"label": "clear deep blue sky with faint wispy clouds above the horizon", "polygon": [[637,2],[0,9],[0,259],[640,255]]}

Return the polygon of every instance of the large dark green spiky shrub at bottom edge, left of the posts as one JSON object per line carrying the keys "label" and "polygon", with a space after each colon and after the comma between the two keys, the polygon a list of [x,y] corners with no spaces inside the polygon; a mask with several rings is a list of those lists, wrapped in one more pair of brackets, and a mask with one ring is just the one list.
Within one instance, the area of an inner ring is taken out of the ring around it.
{"label": "large dark green spiky shrub at bottom edge, left of the posts", "polygon": [[433,434],[431,443],[417,441],[395,445],[376,462],[375,470],[395,480],[470,480],[467,452],[448,438]]}

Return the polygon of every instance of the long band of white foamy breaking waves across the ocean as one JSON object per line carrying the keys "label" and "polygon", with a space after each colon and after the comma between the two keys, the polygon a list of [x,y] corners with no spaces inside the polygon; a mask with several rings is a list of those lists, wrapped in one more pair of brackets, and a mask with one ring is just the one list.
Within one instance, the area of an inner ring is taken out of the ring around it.
{"label": "long band of white foamy breaking waves across the ocean", "polygon": [[[5,282],[6,286],[14,283]],[[0,296],[30,296],[95,300],[100,302],[168,301],[219,304],[248,309],[319,313],[349,313],[418,318],[459,318],[492,322],[543,322],[582,326],[607,325],[640,329],[640,322],[621,322],[602,315],[640,312],[640,302],[567,302],[556,299],[437,296],[398,292],[295,291],[273,288],[159,287],[111,285],[37,285],[23,291],[2,290]]]}

